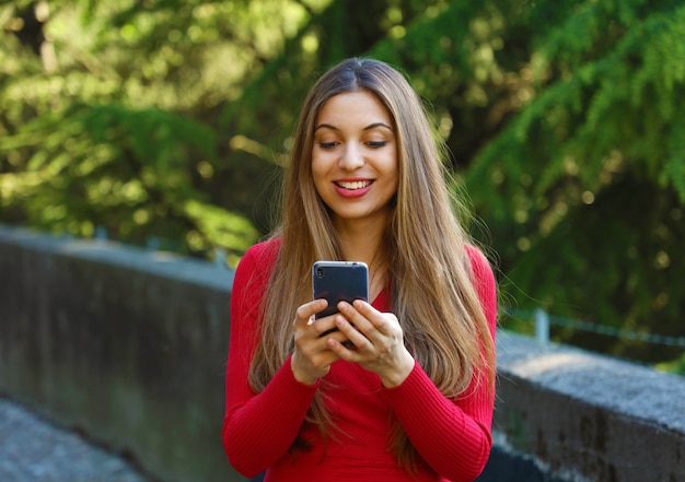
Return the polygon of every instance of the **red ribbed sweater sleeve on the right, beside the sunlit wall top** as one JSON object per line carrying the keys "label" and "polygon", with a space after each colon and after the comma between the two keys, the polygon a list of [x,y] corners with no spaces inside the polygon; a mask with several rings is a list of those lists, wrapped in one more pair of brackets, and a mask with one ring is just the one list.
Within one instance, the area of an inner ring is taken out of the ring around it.
{"label": "red ribbed sweater sleeve on the right, beside the sunlit wall top", "polygon": [[[477,293],[495,337],[497,290],[486,258],[468,248]],[[475,376],[456,400],[445,398],[423,369],[415,365],[398,387],[382,391],[422,459],[451,481],[473,481],[488,461],[495,405],[487,375]]]}

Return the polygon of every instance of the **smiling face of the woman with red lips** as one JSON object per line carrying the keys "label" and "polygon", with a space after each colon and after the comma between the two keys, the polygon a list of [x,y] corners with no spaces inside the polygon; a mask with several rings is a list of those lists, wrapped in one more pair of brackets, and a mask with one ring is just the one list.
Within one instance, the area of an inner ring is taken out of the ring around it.
{"label": "smiling face of the woman with red lips", "polygon": [[398,162],[385,106],[369,91],[338,94],[322,106],[314,129],[312,176],[334,223],[386,223]]}

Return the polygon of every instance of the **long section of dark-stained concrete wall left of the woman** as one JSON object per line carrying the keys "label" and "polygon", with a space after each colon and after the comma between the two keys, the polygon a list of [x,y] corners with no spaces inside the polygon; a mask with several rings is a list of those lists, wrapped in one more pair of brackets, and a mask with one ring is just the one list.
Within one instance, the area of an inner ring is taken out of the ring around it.
{"label": "long section of dark-stained concrete wall left of the woman", "polygon": [[161,480],[240,480],[221,445],[232,272],[0,227],[0,391]]}

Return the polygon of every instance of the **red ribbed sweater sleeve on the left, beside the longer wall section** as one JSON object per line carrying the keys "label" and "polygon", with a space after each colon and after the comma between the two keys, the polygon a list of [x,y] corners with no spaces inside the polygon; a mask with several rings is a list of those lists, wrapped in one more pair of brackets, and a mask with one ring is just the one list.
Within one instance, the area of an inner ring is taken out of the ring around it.
{"label": "red ribbed sweater sleeve on the left, beside the longer wall section", "polygon": [[225,378],[223,446],[233,468],[254,477],[283,457],[312,403],[315,386],[300,384],[290,360],[256,395],[247,381],[258,339],[259,303],[275,261],[275,242],[251,248],[241,260],[231,294],[231,339]]}

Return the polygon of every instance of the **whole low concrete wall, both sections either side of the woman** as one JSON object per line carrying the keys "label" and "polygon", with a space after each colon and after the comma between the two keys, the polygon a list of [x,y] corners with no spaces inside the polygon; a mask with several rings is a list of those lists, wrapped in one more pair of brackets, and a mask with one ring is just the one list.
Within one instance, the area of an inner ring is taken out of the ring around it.
{"label": "whole low concrete wall, both sections either side of the woman", "polygon": [[[231,284],[210,263],[0,226],[0,391],[165,482],[242,480],[220,436]],[[533,480],[498,471],[502,454],[534,480],[685,481],[684,378],[498,337],[481,481]]]}

